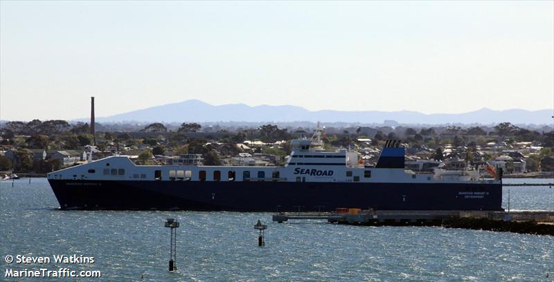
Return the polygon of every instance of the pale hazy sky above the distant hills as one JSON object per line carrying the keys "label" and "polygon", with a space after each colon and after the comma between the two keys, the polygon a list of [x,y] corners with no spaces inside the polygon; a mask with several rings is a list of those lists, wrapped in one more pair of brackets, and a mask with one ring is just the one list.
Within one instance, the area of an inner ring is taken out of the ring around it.
{"label": "pale hazy sky above the distant hills", "polygon": [[97,116],[552,109],[553,3],[1,1],[0,118],[84,118],[90,96]]}

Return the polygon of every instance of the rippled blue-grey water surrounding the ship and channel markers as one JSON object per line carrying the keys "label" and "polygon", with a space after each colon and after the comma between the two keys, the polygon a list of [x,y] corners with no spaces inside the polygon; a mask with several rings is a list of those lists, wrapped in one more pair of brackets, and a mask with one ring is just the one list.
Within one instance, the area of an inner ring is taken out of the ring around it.
{"label": "rippled blue-grey water surrounding the ship and channel markers", "polygon": [[[554,209],[553,190],[510,187],[510,208]],[[507,193],[508,187],[504,207]],[[553,236],[316,221],[277,224],[265,213],[83,212],[57,207],[45,179],[31,184],[16,180],[13,187],[12,182],[0,182],[0,281],[37,280],[6,279],[7,268],[59,267],[102,272],[101,279],[89,281],[554,281]],[[167,271],[167,217],[181,222],[179,270],[173,273]],[[253,224],[258,218],[268,225],[265,247],[257,246]],[[77,254],[93,256],[95,262],[8,265],[8,254]]]}

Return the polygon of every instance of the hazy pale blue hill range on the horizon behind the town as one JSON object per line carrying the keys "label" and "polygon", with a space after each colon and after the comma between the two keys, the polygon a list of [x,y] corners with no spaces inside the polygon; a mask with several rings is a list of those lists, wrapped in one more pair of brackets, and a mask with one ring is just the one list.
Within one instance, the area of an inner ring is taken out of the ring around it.
{"label": "hazy pale blue hill range on the horizon behind the town", "polygon": [[[395,120],[401,124],[551,124],[553,110],[526,111],[511,109],[494,111],[483,108],[468,113],[425,114],[415,111],[308,111],[299,106],[247,106],[226,104],[213,106],[199,100],[153,106],[148,109],[120,113],[97,122],[359,122],[382,124]],[[88,121],[88,118],[80,119]]]}

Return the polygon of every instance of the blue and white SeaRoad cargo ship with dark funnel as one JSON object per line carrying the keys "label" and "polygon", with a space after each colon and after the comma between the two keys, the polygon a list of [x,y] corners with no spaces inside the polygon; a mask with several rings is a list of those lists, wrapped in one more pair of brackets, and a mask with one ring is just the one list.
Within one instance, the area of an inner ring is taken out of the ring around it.
{"label": "blue and white SeaRoad cargo ship with dark funnel", "polygon": [[503,210],[501,179],[406,170],[400,140],[388,140],[375,166],[365,166],[356,152],[323,149],[322,132],[292,140],[280,167],[136,165],[110,156],[48,173],[48,182],[60,209]]}

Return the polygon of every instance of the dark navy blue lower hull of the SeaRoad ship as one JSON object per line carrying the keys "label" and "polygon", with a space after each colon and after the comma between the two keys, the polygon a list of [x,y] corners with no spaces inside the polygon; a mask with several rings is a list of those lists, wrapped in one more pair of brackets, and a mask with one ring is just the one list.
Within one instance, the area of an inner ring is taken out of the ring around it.
{"label": "dark navy blue lower hull of the SeaRoad ship", "polygon": [[500,184],[48,181],[61,209],[502,210]]}

